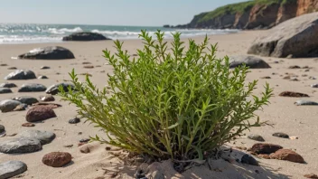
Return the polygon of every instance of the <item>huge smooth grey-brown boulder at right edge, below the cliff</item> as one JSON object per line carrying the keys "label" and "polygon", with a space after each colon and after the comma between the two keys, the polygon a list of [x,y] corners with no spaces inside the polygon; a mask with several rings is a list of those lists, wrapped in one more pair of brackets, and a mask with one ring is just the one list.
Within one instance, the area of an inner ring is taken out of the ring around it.
{"label": "huge smooth grey-brown boulder at right edge, below the cliff", "polygon": [[258,37],[249,54],[278,58],[318,56],[318,13],[304,14],[278,24]]}

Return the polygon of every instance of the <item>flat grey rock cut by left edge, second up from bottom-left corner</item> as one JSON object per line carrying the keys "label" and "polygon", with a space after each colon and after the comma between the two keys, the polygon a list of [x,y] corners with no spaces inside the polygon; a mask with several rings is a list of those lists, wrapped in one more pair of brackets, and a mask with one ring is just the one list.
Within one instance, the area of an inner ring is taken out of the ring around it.
{"label": "flat grey rock cut by left edge, second up from bottom-left corner", "polygon": [[5,154],[32,153],[42,149],[36,138],[14,138],[0,142],[0,152]]}

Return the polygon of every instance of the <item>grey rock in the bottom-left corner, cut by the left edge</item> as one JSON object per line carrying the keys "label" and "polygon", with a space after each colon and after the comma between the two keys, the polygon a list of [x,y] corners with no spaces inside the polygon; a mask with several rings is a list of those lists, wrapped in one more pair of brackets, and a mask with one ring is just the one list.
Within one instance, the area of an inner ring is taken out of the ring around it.
{"label": "grey rock in the bottom-left corner, cut by the left edge", "polygon": [[21,161],[8,161],[0,164],[0,179],[14,177],[23,174],[27,170],[27,166]]}

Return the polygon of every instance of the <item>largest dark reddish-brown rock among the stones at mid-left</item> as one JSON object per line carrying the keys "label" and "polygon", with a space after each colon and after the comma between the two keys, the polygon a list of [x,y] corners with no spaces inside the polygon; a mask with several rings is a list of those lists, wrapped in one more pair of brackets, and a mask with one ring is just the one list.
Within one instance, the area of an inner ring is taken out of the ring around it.
{"label": "largest dark reddish-brown rock among the stones at mid-left", "polygon": [[28,122],[35,122],[39,120],[45,120],[48,118],[55,118],[56,114],[54,110],[50,107],[46,106],[37,106],[31,108],[25,116],[26,121]]}

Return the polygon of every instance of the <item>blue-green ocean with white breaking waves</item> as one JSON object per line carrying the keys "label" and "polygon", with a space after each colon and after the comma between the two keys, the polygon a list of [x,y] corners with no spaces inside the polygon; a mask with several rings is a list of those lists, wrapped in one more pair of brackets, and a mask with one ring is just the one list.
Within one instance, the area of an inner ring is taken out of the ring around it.
{"label": "blue-green ocean with white breaking waves", "polygon": [[138,39],[141,30],[154,33],[160,29],[165,38],[172,38],[171,33],[180,32],[182,37],[193,37],[205,34],[238,33],[239,30],[192,30],[170,29],[164,27],[84,25],[84,24],[0,24],[0,43],[33,43],[61,42],[63,36],[70,33],[92,32],[102,33],[111,39]]}

